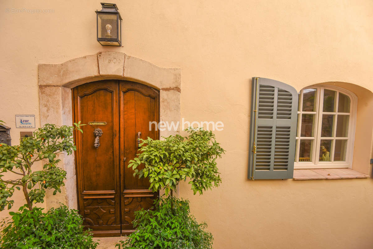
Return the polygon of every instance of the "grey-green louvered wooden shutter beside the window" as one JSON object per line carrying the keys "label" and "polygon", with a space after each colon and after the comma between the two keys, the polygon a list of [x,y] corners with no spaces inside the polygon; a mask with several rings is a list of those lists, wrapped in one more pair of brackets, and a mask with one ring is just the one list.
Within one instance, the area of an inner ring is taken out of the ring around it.
{"label": "grey-green louvered wooden shutter beside the window", "polygon": [[293,177],[297,109],[294,87],[253,78],[248,178]]}

